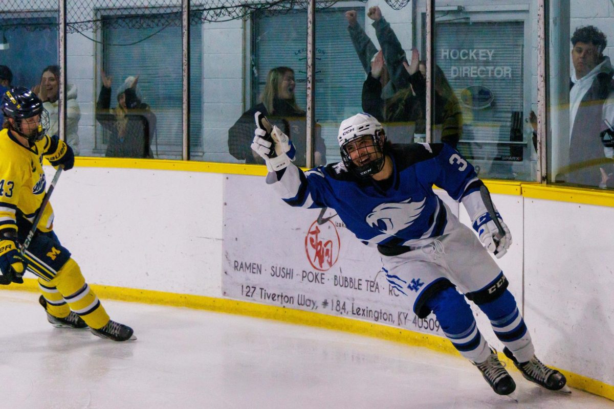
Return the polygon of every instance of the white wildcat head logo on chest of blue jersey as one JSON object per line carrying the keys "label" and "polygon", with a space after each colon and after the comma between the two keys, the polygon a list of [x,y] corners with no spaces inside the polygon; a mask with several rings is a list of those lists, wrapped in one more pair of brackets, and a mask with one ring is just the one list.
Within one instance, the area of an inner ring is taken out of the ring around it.
{"label": "white wildcat head logo on chest of blue jersey", "polygon": [[386,234],[396,234],[414,223],[424,208],[422,202],[412,202],[411,197],[400,203],[383,203],[367,215],[367,223]]}

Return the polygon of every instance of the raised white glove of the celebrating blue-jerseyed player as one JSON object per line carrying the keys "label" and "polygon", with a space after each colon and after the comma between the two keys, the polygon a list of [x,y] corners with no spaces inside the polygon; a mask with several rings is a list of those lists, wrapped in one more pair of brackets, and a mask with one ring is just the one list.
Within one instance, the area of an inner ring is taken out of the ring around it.
{"label": "raised white glove of the celebrating blue-jerseyed player", "polygon": [[282,170],[294,160],[295,148],[290,138],[271,123],[260,112],[254,114],[256,130],[251,148],[265,159],[269,172]]}

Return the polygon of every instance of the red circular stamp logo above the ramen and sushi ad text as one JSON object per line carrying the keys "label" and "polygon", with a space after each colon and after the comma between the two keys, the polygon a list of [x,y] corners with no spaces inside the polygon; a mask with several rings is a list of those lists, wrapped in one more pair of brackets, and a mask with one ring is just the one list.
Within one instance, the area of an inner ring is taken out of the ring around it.
{"label": "red circular stamp logo above the ramen and sushi ad text", "polygon": [[311,224],[305,237],[305,251],[311,267],[319,271],[330,269],[339,258],[340,247],[341,240],[332,221],[317,224],[316,220]]}

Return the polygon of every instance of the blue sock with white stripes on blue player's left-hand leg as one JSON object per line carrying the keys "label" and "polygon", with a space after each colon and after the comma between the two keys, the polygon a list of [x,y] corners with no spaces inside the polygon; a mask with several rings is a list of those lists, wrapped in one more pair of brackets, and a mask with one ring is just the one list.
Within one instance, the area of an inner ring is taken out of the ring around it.
{"label": "blue sock with white stripes on blue player's left-hand leg", "polygon": [[443,333],[462,356],[473,362],[486,361],[490,348],[462,294],[448,287],[430,297],[426,305],[435,313]]}

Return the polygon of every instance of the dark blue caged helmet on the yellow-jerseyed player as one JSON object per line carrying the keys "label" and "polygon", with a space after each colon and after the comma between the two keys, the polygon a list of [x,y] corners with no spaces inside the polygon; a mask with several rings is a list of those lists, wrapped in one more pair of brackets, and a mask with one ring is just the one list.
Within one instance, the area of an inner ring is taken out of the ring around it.
{"label": "dark blue caged helmet on the yellow-jerseyed player", "polygon": [[[21,136],[26,137],[30,143],[41,140],[45,133],[47,133],[47,129],[49,129],[49,113],[42,106],[41,99],[25,86],[9,88],[9,90],[2,94],[0,104],[2,105],[4,118],[12,118],[15,121],[15,126],[11,126],[11,128],[21,134]],[[23,132],[22,121],[36,116],[41,118],[38,129],[26,135]]]}

